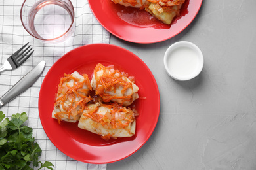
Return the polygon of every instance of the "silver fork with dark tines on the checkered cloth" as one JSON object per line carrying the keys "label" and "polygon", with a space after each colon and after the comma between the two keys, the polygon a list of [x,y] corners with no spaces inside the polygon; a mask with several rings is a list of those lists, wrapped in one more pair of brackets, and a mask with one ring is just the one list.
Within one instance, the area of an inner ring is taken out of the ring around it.
{"label": "silver fork with dark tines on the checkered cloth", "polygon": [[[25,48],[27,45],[28,43],[22,46],[22,48],[20,48],[14,54],[12,54],[12,56],[7,58],[5,63],[3,63],[3,67],[0,68],[0,73],[5,70],[14,70],[20,67],[20,65],[22,65],[22,63],[24,63],[24,61],[26,61],[26,59],[28,59],[32,55],[33,50],[32,48],[30,48],[30,46]],[[30,52],[31,50],[32,52]]]}

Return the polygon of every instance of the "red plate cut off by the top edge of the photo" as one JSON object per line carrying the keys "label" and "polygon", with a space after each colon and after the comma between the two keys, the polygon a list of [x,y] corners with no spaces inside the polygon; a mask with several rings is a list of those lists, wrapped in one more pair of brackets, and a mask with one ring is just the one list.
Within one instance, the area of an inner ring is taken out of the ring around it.
{"label": "red plate cut off by the top edge of the photo", "polygon": [[141,44],[165,41],[181,33],[198,14],[202,1],[186,0],[181,16],[167,25],[145,10],[116,5],[111,0],[88,0],[93,14],[106,30],[120,39]]}

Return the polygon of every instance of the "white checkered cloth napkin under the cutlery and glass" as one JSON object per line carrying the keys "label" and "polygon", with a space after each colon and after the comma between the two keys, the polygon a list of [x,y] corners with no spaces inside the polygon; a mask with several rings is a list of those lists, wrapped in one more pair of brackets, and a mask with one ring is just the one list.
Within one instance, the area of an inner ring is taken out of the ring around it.
{"label": "white checkered cloth napkin under the cutlery and glass", "polygon": [[21,0],[0,1],[0,67],[5,59],[16,52],[23,44],[30,42],[33,52],[21,67],[13,71],[0,73],[0,96],[9,90],[22,76],[26,75],[41,60],[46,62],[45,70],[39,79],[26,92],[1,107],[7,116],[26,112],[27,126],[33,128],[33,137],[43,150],[40,161],[51,161],[55,169],[106,169],[106,164],[94,165],[82,163],[66,156],[49,140],[38,112],[38,97],[44,76],[53,63],[66,52],[93,43],[109,43],[110,33],[106,31],[93,16],[87,0],[72,0],[75,9],[75,31],[72,37],[60,44],[45,44],[29,35],[20,22]]}

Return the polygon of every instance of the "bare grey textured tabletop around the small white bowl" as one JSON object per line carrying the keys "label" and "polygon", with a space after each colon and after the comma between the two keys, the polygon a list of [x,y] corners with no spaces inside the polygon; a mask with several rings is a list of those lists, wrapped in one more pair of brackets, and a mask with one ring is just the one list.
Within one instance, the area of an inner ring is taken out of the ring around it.
{"label": "bare grey textured tabletop around the small white bowl", "polygon": [[[140,150],[107,169],[256,169],[256,1],[204,0],[179,35],[154,44],[110,37],[141,58],[156,78],[161,109]],[[165,50],[190,41],[203,53],[202,73],[167,75]]]}

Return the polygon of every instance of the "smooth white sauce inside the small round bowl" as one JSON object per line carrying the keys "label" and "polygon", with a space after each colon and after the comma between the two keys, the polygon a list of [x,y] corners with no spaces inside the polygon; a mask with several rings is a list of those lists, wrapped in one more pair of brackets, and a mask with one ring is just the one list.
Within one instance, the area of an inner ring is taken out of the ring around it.
{"label": "smooth white sauce inside the small round bowl", "polygon": [[200,59],[196,51],[187,46],[175,48],[168,56],[167,67],[173,75],[186,77],[198,70]]}

